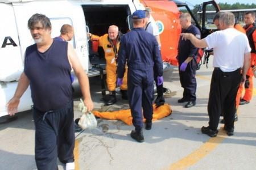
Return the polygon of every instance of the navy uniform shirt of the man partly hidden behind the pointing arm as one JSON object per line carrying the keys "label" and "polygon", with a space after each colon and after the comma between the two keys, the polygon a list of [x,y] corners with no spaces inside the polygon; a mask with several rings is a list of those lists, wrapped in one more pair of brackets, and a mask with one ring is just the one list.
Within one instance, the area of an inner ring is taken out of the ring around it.
{"label": "navy uniform shirt of the man partly hidden behind the pointing arm", "polygon": [[[192,33],[195,35],[198,39],[201,39],[201,33],[199,29],[195,25],[190,25],[187,29],[182,29],[181,33]],[[189,40],[179,40],[179,46],[178,46],[178,54],[177,59],[179,62],[179,65],[185,61],[188,57],[194,57],[196,59],[196,55],[198,52],[198,48],[196,48],[191,41]]]}

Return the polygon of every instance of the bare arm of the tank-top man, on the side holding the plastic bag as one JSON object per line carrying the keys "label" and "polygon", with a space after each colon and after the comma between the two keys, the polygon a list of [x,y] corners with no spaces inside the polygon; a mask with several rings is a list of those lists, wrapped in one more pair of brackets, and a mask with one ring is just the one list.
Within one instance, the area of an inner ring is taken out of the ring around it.
{"label": "bare arm of the tank-top man, on the side holding the plastic bag", "polygon": [[68,59],[71,62],[71,66],[75,71],[75,74],[79,80],[80,88],[82,91],[82,96],[84,96],[84,103],[88,109],[88,111],[92,111],[93,109],[93,101],[90,97],[90,85],[88,76],[85,74],[84,69],[77,57],[77,54],[73,47],[68,44]]}

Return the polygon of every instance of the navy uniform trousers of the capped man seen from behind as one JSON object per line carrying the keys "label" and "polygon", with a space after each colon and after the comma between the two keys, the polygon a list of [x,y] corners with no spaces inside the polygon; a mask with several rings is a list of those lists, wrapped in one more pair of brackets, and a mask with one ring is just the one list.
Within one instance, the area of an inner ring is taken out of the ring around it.
{"label": "navy uniform trousers of the capped man seen from behind", "polygon": [[143,116],[146,120],[152,120],[153,108],[153,90],[154,90],[154,73],[153,69],[146,71],[128,70],[127,75],[129,105],[131,116],[133,116],[133,125],[135,130],[143,128]]}

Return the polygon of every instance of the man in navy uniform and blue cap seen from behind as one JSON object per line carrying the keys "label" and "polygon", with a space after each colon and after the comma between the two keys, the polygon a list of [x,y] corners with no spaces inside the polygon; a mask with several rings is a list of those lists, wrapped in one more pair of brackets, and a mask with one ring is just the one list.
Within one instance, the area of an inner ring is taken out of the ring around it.
{"label": "man in navy uniform and blue cap seen from behind", "polygon": [[117,84],[121,85],[127,61],[128,99],[135,126],[131,137],[138,142],[144,141],[142,108],[146,118],[145,129],[150,130],[152,126],[154,74],[158,75],[158,84],[163,83],[163,64],[158,42],[144,30],[145,18],[146,14],[142,10],[133,13],[134,28],[121,39],[117,69]]}

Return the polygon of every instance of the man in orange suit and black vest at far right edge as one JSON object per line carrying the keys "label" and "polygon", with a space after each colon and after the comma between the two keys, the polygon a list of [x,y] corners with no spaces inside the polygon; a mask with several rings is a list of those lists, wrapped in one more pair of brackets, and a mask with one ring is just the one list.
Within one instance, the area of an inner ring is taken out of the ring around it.
{"label": "man in orange suit and black vest at far right edge", "polygon": [[[245,83],[245,95],[240,100],[240,105],[250,103],[251,98],[253,97],[253,70],[252,68],[255,65],[256,58],[256,24],[255,24],[255,12],[248,11],[245,12],[245,26],[243,27],[246,31],[246,36],[248,37],[249,44],[251,47],[251,67],[246,74]],[[242,87],[243,88],[243,87]]]}

